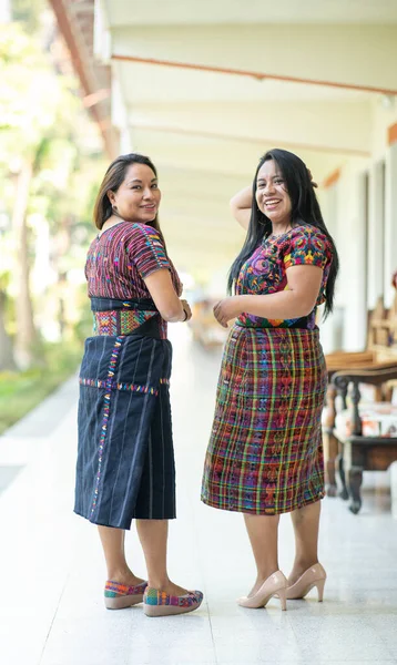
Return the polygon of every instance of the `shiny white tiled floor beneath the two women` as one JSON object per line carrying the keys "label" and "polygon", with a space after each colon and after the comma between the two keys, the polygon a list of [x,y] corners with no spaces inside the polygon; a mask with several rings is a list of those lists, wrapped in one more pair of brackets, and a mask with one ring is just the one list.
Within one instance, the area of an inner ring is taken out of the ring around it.
{"label": "shiny white tiled floor beneath the two women", "polygon": [[[257,611],[236,605],[254,577],[242,518],[198,500],[218,354],[192,349],[184,330],[173,329],[179,520],[171,525],[170,569],[180,584],[204,591],[202,608],[161,620],[145,617],[140,606],[104,610],[95,529],[71,512],[73,380],[0,438],[1,665],[396,664],[397,521],[381,488],[366,494],[358,516],[338,499],[323,502],[323,604],[309,596],[283,613],[276,601]],[[287,515],[279,546],[287,573]],[[128,548],[143,576],[134,531]]]}

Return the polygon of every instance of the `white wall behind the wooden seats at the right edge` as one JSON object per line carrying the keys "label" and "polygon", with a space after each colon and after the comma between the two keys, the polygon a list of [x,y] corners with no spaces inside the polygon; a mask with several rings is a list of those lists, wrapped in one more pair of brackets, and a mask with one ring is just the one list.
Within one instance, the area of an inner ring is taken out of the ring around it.
{"label": "white wall behind the wooden seats at the right edge", "polygon": [[[348,160],[339,181],[322,197],[326,223],[340,258],[335,315],[323,326],[325,349],[360,350],[366,344],[367,310],[384,296],[389,307],[397,268],[397,144],[388,145],[388,129],[397,122],[393,100],[374,98],[371,158]],[[365,174],[368,174],[366,241]],[[367,270],[366,270],[367,267]],[[342,345],[338,329],[343,325]]]}

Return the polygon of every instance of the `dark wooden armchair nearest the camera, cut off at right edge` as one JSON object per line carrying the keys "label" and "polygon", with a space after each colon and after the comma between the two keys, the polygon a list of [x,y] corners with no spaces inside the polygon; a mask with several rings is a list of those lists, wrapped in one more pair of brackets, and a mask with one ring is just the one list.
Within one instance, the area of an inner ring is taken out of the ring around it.
{"label": "dark wooden armchair nearest the camera, cut off at right edge", "polygon": [[379,370],[338,371],[332,379],[335,390],[342,398],[344,409],[346,409],[348,387],[352,387],[350,432],[340,436],[340,432],[335,430],[334,422],[334,436],[342,446],[339,459],[342,498],[350,498],[349,510],[354,514],[357,514],[362,508],[363,471],[385,471],[397,461],[397,432],[396,436],[363,436],[359,383],[369,383],[381,389],[396,379],[397,365],[394,368]]}

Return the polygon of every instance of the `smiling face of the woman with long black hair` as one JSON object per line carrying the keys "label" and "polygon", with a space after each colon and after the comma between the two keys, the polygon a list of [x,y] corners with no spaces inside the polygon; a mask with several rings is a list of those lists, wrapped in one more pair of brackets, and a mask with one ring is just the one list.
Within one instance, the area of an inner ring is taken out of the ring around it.
{"label": "smiling face of the woman with long black hair", "polygon": [[256,203],[259,211],[271,219],[273,227],[291,224],[292,204],[285,180],[274,160],[267,160],[256,176]]}

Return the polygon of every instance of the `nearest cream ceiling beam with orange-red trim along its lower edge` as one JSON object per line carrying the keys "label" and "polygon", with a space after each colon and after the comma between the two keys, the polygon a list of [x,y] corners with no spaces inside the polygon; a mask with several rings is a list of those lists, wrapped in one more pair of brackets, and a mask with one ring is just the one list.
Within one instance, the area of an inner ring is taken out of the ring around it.
{"label": "nearest cream ceiling beam with orange-red trim along its lower edge", "polygon": [[151,68],[397,94],[395,25],[116,28],[112,52]]}

